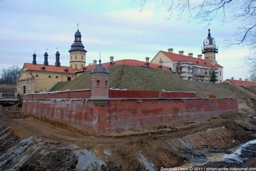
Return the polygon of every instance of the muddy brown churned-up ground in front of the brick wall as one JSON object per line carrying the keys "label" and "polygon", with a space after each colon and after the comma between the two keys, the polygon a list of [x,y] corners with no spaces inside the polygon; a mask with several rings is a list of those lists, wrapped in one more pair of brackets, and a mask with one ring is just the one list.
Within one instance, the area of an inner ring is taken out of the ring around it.
{"label": "muddy brown churned-up ground in front of the brick wall", "polygon": [[[104,136],[84,135],[21,114],[17,106],[5,107],[0,111],[0,171],[153,171],[181,166],[212,151],[227,151],[255,139],[249,132],[255,132],[256,119],[247,115],[256,116],[256,112],[246,101],[239,103],[238,114],[228,112]],[[248,160],[239,166],[255,163],[255,153],[248,155]],[[224,165],[219,162],[214,166]]]}

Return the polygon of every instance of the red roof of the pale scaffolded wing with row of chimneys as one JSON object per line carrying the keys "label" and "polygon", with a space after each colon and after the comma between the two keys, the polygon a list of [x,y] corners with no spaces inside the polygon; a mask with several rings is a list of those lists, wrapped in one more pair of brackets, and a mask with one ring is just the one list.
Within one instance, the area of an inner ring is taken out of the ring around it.
{"label": "red roof of the pale scaffolded wing with row of chimneys", "polygon": [[207,61],[205,59],[200,59],[200,58],[195,58],[195,57],[191,57],[191,56],[185,56],[185,55],[180,55],[180,54],[175,54],[175,53],[170,53],[170,52],[165,52],[165,51],[162,51],[162,50],[160,50],[160,52],[162,52],[165,56],[170,58],[172,61],[179,61],[179,62],[181,62],[181,61],[190,61],[190,62],[192,62],[193,64],[196,64],[196,65],[223,68],[223,66],[221,66],[219,64],[213,65],[212,63],[210,63],[209,61]]}

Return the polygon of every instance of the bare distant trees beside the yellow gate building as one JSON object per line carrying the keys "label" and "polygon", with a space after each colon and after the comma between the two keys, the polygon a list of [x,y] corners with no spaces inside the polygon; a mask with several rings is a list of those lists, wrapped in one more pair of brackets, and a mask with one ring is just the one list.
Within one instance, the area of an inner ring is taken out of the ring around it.
{"label": "bare distant trees beside the yellow gate building", "polygon": [[16,84],[20,77],[21,68],[18,65],[12,65],[8,69],[2,69],[0,84]]}

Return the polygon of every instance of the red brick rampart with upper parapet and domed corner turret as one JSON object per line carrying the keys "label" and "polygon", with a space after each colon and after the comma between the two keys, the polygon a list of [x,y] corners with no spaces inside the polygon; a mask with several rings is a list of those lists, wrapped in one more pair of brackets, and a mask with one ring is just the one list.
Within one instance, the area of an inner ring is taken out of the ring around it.
{"label": "red brick rampart with upper parapet and domed corner turret", "polygon": [[238,112],[235,98],[196,98],[195,92],[165,90],[159,97],[153,90],[109,89],[110,73],[99,62],[90,72],[90,89],[25,94],[22,111],[93,134]]}

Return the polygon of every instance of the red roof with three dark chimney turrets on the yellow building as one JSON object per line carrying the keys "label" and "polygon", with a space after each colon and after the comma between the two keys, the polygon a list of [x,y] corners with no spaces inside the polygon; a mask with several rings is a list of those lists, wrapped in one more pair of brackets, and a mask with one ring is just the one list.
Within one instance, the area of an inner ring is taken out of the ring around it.
{"label": "red roof with three dark chimney turrets on the yellow building", "polygon": [[[57,67],[55,65],[44,65],[44,64],[32,64],[32,63],[25,63],[28,70],[33,71],[49,71],[49,72],[63,72],[63,73],[76,73],[72,67],[69,66],[60,66]],[[42,67],[45,67],[45,70],[42,70]],[[68,69],[68,72],[64,70]]]}

